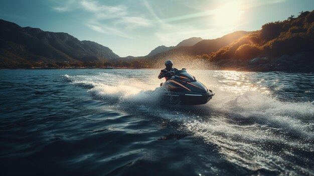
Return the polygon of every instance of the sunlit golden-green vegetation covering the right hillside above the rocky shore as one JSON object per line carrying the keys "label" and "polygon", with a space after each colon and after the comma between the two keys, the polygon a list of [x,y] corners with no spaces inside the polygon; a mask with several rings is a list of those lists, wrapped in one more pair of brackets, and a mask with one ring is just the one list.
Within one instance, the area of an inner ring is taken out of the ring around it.
{"label": "sunlit golden-green vegetation covering the right hillside above the rocky shore", "polygon": [[301,12],[297,18],[267,23],[262,29],[246,35],[217,52],[204,54],[210,62],[236,59],[246,61],[256,57],[280,57],[314,51],[314,11]]}

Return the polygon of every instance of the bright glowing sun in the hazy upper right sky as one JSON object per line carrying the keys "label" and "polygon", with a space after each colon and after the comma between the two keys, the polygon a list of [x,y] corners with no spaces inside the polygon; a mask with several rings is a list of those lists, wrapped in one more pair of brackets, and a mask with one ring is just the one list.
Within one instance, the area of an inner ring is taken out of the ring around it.
{"label": "bright glowing sun in the hazy upper right sky", "polygon": [[234,26],[240,23],[243,11],[238,2],[229,2],[214,10],[215,26]]}

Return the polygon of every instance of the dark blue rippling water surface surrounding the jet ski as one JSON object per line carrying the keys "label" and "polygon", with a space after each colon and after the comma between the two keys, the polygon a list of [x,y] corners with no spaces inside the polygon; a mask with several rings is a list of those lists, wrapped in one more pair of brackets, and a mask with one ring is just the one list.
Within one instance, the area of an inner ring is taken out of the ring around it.
{"label": "dark blue rippling water surface surrounding the jet ski", "polygon": [[1,175],[314,175],[314,74],[190,72],[205,105],[159,70],[0,70]]}

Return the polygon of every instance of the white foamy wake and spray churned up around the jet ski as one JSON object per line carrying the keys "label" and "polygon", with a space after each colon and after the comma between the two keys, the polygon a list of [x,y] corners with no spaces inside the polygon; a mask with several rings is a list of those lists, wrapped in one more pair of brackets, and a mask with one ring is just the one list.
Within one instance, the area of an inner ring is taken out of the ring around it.
{"label": "white foamy wake and spray churned up around the jet ski", "polygon": [[154,91],[159,85],[155,76],[143,79],[100,73],[65,77],[112,108],[179,124],[179,130],[205,144],[215,144],[226,160],[244,168],[313,174],[308,165],[297,164],[298,160],[311,161],[314,153],[311,102],[280,101],[267,86],[247,83],[241,76],[227,83],[201,76],[201,82],[216,92],[209,103],[163,106],[167,102],[161,103],[162,92]]}

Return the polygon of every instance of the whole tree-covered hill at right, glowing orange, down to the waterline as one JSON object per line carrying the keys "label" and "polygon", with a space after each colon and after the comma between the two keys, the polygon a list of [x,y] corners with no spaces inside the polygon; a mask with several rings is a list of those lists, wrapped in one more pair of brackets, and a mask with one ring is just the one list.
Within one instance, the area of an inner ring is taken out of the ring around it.
{"label": "whole tree-covered hill at right, glowing orange, down to the waterline", "polygon": [[202,57],[222,69],[314,72],[314,11],[299,14]]}

